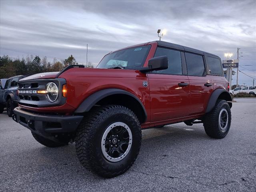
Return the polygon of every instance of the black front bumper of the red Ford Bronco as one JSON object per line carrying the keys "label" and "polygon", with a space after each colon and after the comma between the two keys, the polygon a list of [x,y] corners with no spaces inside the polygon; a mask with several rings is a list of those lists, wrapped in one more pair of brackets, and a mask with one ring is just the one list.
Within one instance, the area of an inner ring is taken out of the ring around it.
{"label": "black front bumper of the red Ford Bronco", "polygon": [[49,115],[29,112],[16,107],[12,119],[32,132],[47,137],[76,131],[84,116]]}

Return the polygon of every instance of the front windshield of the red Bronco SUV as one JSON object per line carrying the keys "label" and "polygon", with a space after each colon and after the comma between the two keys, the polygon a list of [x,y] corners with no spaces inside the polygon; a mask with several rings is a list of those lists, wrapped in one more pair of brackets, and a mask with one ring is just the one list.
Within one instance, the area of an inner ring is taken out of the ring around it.
{"label": "front windshield of the red Bronco SUV", "polygon": [[107,54],[97,68],[134,69],[142,67],[150,50],[150,45],[128,48]]}

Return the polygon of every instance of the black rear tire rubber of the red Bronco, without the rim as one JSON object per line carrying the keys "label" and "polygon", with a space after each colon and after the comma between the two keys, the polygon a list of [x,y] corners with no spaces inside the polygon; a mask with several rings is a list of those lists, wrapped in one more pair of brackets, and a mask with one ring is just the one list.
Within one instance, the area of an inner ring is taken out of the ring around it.
{"label": "black rear tire rubber of the red Bronco, without the rim", "polygon": [[[228,125],[225,130],[222,130],[219,125],[219,115],[222,109],[226,109],[228,113]],[[231,110],[226,100],[217,100],[211,112],[204,116],[204,130],[209,137],[222,139],[230,129],[231,124]]]}

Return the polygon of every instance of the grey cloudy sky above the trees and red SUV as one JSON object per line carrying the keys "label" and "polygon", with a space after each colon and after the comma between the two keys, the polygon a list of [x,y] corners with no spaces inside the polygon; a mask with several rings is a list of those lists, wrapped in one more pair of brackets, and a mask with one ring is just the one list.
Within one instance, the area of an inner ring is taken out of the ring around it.
{"label": "grey cloudy sky above the trees and red SUV", "polygon": [[[97,64],[112,50],[158,40],[217,54],[241,48],[241,72],[256,78],[256,1],[0,1],[0,55]],[[252,84],[239,73],[238,83]],[[236,76],[232,84],[235,84]]]}

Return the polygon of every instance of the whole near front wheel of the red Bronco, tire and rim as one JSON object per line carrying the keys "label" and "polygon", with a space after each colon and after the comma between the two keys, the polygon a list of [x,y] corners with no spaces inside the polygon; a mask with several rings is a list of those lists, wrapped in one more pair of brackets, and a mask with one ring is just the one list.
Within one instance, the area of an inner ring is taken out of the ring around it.
{"label": "whole near front wheel of the red Bronco, tire and rim", "polygon": [[95,108],[82,120],[76,134],[81,164],[103,177],[126,172],[136,160],[141,144],[140,122],[124,106]]}

